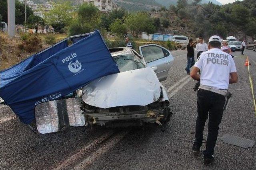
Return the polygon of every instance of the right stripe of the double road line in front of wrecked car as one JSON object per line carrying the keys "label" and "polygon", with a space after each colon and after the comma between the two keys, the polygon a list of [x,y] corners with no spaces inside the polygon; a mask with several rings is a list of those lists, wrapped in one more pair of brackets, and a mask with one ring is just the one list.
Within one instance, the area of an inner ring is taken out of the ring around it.
{"label": "right stripe of the double road line in front of wrecked car", "polygon": [[116,145],[116,143],[121,141],[121,139],[128,132],[129,131],[124,131],[122,133],[119,133],[118,135],[116,135],[115,137],[110,139],[110,141],[108,141],[103,147],[101,147],[100,149],[96,150],[93,154],[88,156],[86,159],[84,159],[82,162],[80,162],[80,164],[78,164],[77,166],[75,166],[72,169],[74,169],[74,170],[82,170],[82,169],[85,169],[87,166],[90,166],[95,160],[100,158],[102,155],[104,155],[106,152],[108,152],[108,150],[110,150],[112,147],[114,147],[114,145]]}

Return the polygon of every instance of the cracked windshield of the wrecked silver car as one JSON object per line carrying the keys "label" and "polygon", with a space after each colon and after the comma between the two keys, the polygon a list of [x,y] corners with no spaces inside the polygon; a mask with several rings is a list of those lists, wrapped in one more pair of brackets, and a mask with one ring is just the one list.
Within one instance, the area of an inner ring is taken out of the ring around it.
{"label": "cracked windshield of the wrecked silver car", "polygon": [[135,55],[118,55],[113,57],[120,72],[145,68],[144,64]]}

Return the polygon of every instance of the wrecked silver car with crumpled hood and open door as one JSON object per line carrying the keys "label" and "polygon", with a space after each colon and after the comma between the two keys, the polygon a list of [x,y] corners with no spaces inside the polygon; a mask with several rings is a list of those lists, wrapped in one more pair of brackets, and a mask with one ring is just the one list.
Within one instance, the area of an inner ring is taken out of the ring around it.
{"label": "wrecked silver car with crumpled hood and open door", "polygon": [[137,126],[170,121],[165,80],[173,57],[158,45],[110,49],[120,73],[98,78],[83,88],[82,110],[91,125]]}

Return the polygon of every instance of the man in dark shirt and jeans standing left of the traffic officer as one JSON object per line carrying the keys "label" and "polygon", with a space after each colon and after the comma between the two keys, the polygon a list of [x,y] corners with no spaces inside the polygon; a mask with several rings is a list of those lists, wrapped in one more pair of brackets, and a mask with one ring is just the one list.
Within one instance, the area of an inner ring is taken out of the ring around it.
{"label": "man in dark shirt and jeans standing left of the traffic officer", "polygon": [[193,39],[190,38],[188,41],[188,46],[187,46],[187,50],[188,50],[188,54],[187,54],[187,59],[188,59],[188,64],[187,67],[185,68],[185,70],[187,71],[187,74],[190,74],[190,68],[195,64],[195,58],[194,58],[194,47],[193,45],[196,43],[196,41],[193,42]]}

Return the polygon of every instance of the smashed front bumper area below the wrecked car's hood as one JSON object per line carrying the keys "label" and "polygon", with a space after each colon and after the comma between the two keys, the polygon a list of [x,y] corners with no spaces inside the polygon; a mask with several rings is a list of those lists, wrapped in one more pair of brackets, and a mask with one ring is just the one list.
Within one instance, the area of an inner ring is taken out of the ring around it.
{"label": "smashed front bumper area below the wrecked car's hood", "polygon": [[[140,126],[144,123],[164,122],[170,113],[169,102],[162,103],[162,107],[153,109],[152,106],[125,106],[109,109],[85,110],[85,119],[90,125],[106,127]],[[89,106],[88,106],[89,107]]]}

